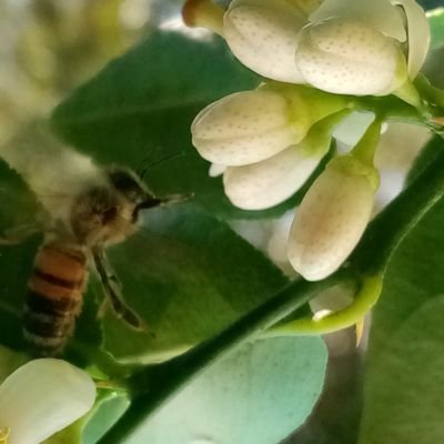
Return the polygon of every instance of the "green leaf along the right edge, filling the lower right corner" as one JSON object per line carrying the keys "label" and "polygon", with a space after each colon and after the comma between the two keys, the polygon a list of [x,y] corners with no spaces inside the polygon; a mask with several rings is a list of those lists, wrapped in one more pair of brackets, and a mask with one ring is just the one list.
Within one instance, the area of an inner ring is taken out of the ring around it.
{"label": "green leaf along the right edge, filling the lower right corner", "polygon": [[393,258],[370,336],[360,444],[444,441],[444,201]]}

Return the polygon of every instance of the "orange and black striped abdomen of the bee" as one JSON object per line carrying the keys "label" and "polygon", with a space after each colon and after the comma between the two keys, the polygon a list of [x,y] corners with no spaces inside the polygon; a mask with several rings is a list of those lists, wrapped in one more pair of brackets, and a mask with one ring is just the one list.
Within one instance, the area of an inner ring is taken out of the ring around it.
{"label": "orange and black striped abdomen of the bee", "polygon": [[24,305],[24,340],[40,356],[60,352],[72,334],[87,282],[79,248],[49,243],[37,253]]}

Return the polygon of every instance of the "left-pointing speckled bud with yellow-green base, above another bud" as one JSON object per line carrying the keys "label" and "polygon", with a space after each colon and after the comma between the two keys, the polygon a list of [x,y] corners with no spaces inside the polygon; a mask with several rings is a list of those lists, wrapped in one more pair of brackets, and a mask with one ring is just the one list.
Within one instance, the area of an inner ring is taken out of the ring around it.
{"label": "left-pointing speckled bud with yellow-green base, above another bud", "polygon": [[270,82],[203,109],[191,125],[192,141],[212,163],[249,165],[300,143],[313,124],[347,105],[342,95]]}

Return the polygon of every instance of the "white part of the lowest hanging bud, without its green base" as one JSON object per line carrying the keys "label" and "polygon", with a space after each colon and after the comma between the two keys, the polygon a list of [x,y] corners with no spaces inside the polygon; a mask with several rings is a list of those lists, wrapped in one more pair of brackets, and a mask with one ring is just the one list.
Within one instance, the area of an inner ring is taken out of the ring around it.
{"label": "white part of the lowest hanging bud, without its green base", "polygon": [[329,168],[316,179],[296,212],[289,260],[302,276],[319,281],[336,271],[369,223],[373,189],[363,175]]}

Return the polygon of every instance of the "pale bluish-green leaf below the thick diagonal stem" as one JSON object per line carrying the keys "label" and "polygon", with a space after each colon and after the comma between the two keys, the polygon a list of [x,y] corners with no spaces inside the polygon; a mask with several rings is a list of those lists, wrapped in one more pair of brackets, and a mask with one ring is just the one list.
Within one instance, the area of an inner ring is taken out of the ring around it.
{"label": "pale bluish-green leaf below the thick diagonal stem", "polygon": [[319,337],[246,344],[205,369],[125,443],[275,444],[312,411],[325,365]]}

